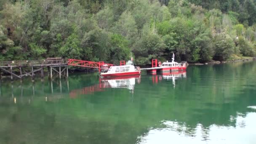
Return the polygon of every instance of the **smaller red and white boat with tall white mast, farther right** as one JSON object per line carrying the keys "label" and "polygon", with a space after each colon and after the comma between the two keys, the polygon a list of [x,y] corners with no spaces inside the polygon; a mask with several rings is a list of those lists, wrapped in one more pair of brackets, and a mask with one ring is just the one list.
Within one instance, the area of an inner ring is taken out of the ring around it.
{"label": "smaller red and white boat with tall white mast, farther right", "polygon": [[177,63],[174,61],[174,53],[173,53],[173,58],[171,62],[159,62],[159,67],[163,67],[162,71],[179,71],[179,70],[186,70],[187,69],[187,62],[183,63]]}

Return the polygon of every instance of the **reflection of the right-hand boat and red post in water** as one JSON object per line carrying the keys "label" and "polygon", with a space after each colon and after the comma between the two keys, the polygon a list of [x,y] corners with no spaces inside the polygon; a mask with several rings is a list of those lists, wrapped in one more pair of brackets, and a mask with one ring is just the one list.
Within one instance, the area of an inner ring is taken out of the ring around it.
{"label": "reflection of the right-hand boat and red post in water", "polygon": [[187,77],[186,71],[175,71],[175,72],[163,72],[161,75],[153,75],[152,83],[158,83],[158,81],[162,80],[172,80],[173,88],[175,88],[175,80]]}

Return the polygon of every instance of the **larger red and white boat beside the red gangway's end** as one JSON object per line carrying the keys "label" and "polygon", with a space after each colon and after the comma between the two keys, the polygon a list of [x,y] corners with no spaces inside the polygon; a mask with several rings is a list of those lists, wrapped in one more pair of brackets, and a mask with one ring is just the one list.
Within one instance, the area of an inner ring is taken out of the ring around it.
{"label": "larger red and white boat beside the red gangway's end", "polygon": [[133,62],[128,61],[124,66],[110,67],[107,72],[101,73],[101,77],[120,77],[140,74],[140,67],[134,67]]}

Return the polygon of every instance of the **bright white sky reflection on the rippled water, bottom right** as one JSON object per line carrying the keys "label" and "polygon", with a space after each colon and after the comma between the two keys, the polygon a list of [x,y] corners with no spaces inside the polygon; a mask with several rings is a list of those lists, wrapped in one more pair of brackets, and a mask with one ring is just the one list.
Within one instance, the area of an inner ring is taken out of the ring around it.
{"label": "bright white sky reflection on the rippled water, bottom right", "polygon": [[[200,123],[189,128],[186,123],[163,120],[164,128],[149,129],[138,137],[137,144],[256,144],[256,113],[248,112],[235,119],[235,126],[213,124],[208,128]],[[244,137],[243,133],[247,135]]]}

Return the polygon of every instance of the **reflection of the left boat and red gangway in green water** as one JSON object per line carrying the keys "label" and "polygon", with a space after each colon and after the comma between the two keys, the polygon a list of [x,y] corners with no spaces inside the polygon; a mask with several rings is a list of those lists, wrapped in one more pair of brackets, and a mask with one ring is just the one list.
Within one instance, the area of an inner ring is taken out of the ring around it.
{"label": "reflection of the left boat and red gangway in green water", "polygon": [[133,93],[136,81],[137,83],[141,82],[140,75],[100,78],[99,84],[73,90],[69,93],[69,96],[70,98],[76,98],[78,95],[86,95],[97,91],[104,91],[105,88],[127,88],[131,93]]}

